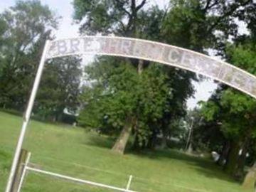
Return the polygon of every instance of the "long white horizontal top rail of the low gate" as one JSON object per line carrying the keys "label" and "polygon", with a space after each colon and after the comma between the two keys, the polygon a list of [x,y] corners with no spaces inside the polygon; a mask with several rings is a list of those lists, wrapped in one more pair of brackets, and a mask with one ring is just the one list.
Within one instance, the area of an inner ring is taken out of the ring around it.
{"label": "long white horizontal top rail of the low gate", "polygon": [[[40,173],[40,174],[46,174],[48,176],[54,176],[54,177],[63,178],[63,179],[70,180],[70,181],[75,181],[75,182],[78,182],[78,183],[84,183],[84,184],[88,184],[88,185],[91,185],[91,186],[98,186],[98,187],[102,187],[102,188],[110,188],[110,189],[113,189],[115,191],[127,191],[126,188],[118,188],[118,187],[114,187],[114,186],[108,186],[108,185],[105,185],[105,184],[102,184],[102,183],[96,183],[96,182],[92,182],[92,181],[83,180],[83,179],[80,179],[80,178],[65,176],[65,175],[62,175],[62,174],[55,174],[55,173],[50,172],[50,171],[43,171],[41,169],[36,169],[36,168],[29,167],[29,166],[27,166],[27,170],[28,171],[34,171],[34,172],[37,172],[37,173]],[[135,191],[128,190],[127,192],[135,192]]]}

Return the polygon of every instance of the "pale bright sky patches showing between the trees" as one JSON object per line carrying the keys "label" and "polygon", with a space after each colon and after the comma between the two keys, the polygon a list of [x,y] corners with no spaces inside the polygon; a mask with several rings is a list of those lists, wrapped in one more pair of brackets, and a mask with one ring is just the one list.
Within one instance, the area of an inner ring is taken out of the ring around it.
{"label": "pale bright sky patches showing between the trees", "polygon": [[[0,0],[0,12],[4,9],[8,9],[15,4],[15,0]],[[73,22],[73,0],[41,0],[42,4],[47,4],[51,10],[58,16],[61,16],[60,26],[57,31],[54,31],[56,38],[69,38],[79,36],[79,26]],[[151,0],[150,4],[158,4],[161,8],[164,8],[168,4],[169,0]],[[84,59],[85,60],[85,59]],[[89,58],[91,60],[91,58]],[[200,100],[208,100],[211,93],[215,90],[217,85],[213,80],[207,79],[203,82],[193,82],[196,87],[196,93],[194,97],[188,99],[188,109],[196,107],[197,102]]]}

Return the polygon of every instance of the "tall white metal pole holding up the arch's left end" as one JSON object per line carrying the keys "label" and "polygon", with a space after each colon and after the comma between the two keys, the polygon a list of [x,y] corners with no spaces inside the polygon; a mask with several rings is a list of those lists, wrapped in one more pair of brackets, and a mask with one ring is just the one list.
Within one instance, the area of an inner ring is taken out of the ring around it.
{"label": "tall white metal pole holding up the arch's left end", "polygon": [[15,175],[17,164],[18,164],[18,156],[21,153],[21,147],[22,147],[22,144],[23,144],[23,139],[24,139],[25,134],[26,134],[26,128],[28,126],[28,122],[29,122],[29,119],[31,117],[31,111],[32,111],[32,108],[33,108],[33,103],[35,101],[36,92],[38,90],[38,86],[39,86],[39,83],[40,83],[40,80],[41,80],[41,75],[43,73],[43,66],[44,66],[45,61],[46,61],[46,54],[47,54],[47,51],[48,51],[49,43],[50,43],[50,41],[46,41],[46,45],[43,48],[43,55],[42,55],[41,61],[40,61],[39,66],[38,66],[38,71],[36,73],[35,81],[33,83],[31,96],[30,96],[29,101],[28,101],[28,107],[26,108],[26,113],[23,116],[23,124],[22,124],[22,127],[21,127],[21,133],[20,133],[20,136],[18,137],[18,143],[17,143],[17,146],[16,146],[15,154],[14,154],[14,160],[13,160],[13,163],[11,165],[11,172],[10,172],[9,179],[8,179],[8,182],[7,182],[6,192],[11,192],[11,186],[12,186],[13,181],[14,181],[14,175]]}

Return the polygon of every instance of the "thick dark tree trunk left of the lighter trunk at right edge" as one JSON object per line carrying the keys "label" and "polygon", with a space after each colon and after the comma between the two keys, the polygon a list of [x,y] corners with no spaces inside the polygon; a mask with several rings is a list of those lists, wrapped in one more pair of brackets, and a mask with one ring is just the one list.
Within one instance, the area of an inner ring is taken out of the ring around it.
{"label": "thick dark tree trunk left of the lighter trunk at right edge", "polygon": [[240,151],[240,142],[232,141],[230,143],[230,151],[228,152],[228,159],[225,164],[224,170],[231,176],[235,176],[238,159],[239,159],[239,151]]}

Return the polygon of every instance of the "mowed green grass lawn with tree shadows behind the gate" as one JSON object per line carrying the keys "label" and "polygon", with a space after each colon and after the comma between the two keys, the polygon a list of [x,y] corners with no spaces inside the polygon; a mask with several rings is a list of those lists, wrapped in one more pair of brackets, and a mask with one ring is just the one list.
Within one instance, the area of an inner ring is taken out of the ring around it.
{"label": "mowed green grass lawn with tree shadows behind the gate", "polygon": [[[0,112],[0,191],[4,191],[21,117]],[[210,159],[186,156],[174,150],[124,156],[110,151],[112,139],[82,128],[32,121],[23,148],[31,163],[43,170],[145,192],[245,191]],[[21,191],[111,191],[29,172]],[[249,192],[249,191],[248,191]]]}

